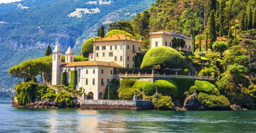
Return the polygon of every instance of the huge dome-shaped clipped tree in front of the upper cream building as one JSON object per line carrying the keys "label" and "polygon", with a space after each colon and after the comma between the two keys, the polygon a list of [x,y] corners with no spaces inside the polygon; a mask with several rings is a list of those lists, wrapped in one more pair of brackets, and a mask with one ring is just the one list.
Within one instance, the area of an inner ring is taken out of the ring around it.
{"label": "huge dome-shaped clipped tree in front of the upper cream building", "polygon": [[167,46],[154,47],[145,54],[141,69],[152,68],[155,65],[167,68],[184,68],[185,58],[175,49]]}

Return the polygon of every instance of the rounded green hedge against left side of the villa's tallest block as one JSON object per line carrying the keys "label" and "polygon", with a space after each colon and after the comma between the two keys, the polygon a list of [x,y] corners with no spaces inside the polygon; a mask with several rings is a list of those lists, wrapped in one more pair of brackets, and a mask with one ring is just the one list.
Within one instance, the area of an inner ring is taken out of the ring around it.
{"label": "rounded green hedge against left side of the villa's tallest block", "polygon": [[[99,36],[96,36],[95,39],[100,39]],[[81,48],[81,55],[84,56],[84,58],[89,56],[89,53],[93,52],[93,41],[94,41],[94,37],[93,38],[89,38],[87,39],[82,48]]]}

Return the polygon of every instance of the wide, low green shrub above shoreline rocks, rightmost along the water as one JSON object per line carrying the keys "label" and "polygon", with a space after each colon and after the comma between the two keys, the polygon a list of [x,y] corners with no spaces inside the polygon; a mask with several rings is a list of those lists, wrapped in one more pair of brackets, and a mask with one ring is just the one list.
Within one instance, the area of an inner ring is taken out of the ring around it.
{"label": "wide, low green shrub above shoreline rocks, rightmost along the water", "polygon": [[212,109],[219,109],[222,107],[228,107],[230,105],[229,100],[224,95],[209,95],[205,93],[199,93],[197,100],[203,103],[205,106]]}

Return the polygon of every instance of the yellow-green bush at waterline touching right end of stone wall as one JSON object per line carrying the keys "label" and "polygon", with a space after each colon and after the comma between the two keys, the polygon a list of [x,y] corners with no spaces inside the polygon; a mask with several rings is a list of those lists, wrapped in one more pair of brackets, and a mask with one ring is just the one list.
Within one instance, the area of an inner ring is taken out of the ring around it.
{"label": "yellow-green bush at waterline touching right end of stone wall", "polygon": [[160,95],[160,98],[158,100],[153,99],[152,103],[157,107],[157,109],[170,110],[174,108],[174,103],[170,96]]}

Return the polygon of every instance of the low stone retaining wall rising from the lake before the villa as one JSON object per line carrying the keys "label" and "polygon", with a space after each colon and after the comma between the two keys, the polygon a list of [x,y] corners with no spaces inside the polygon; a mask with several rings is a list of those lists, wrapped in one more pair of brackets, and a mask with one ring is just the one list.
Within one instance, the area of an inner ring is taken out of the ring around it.
{"label": "low stone retaining wall rising from the lake before the villa", "polygon": [[152,110],[151,101],[134,100],[81,100],[82,109]]}

